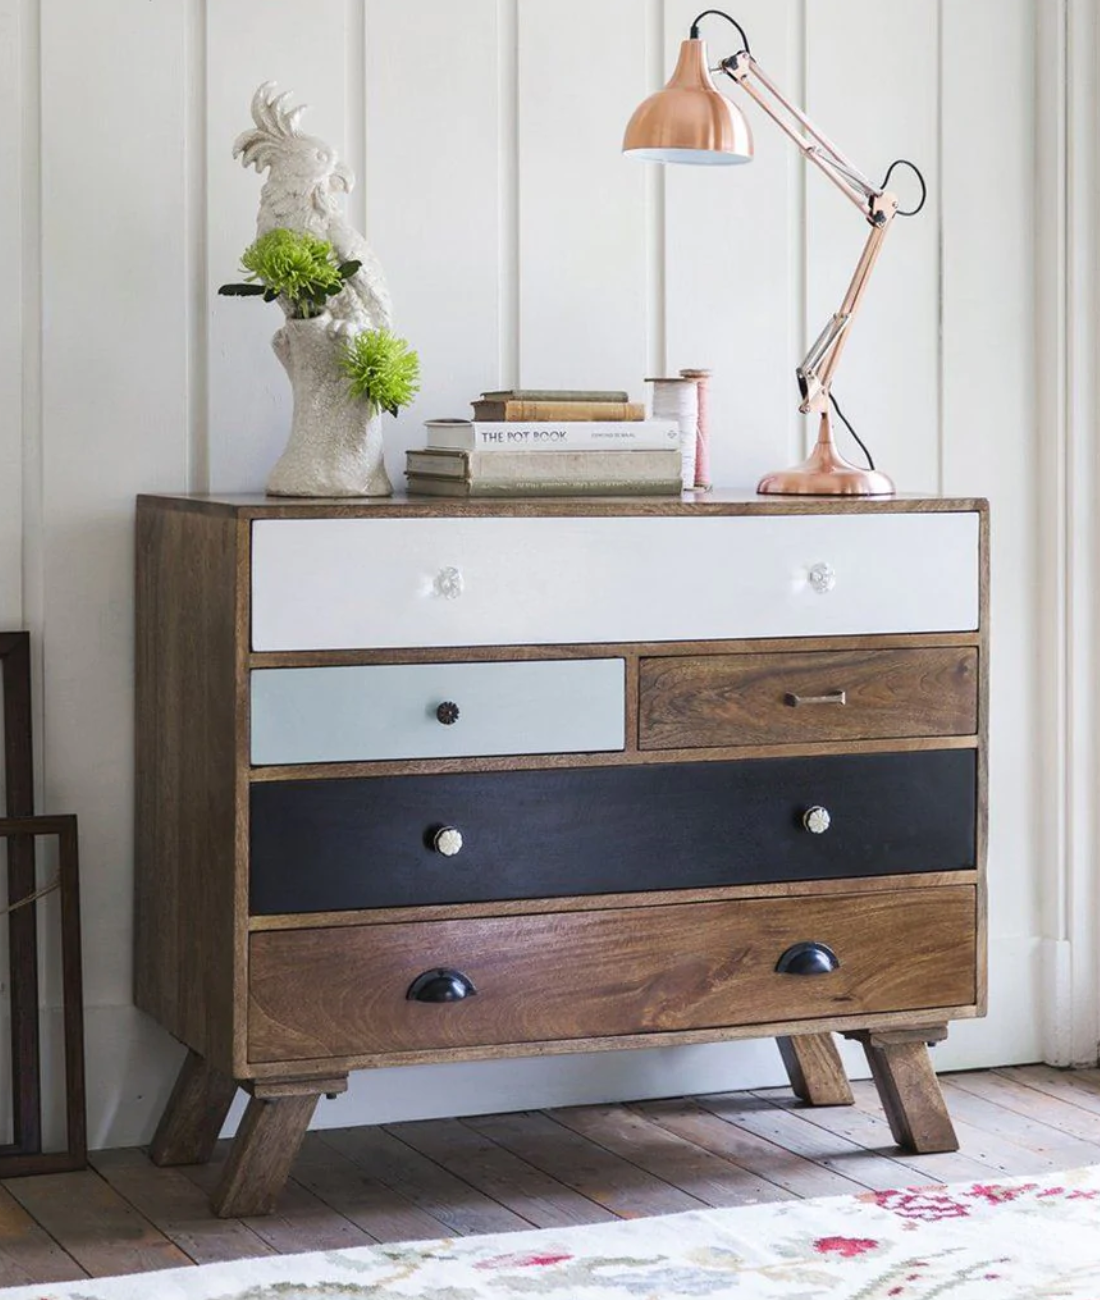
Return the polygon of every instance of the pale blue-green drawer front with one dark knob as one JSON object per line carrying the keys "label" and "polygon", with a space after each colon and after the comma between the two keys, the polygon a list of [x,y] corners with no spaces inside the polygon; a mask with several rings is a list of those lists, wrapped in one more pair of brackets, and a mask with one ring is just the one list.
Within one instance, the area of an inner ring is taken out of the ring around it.
{"label": "pale blue-green drawer front with one dark knob", "polygon": [[[566,754],[625,741],[622,659],[263,668],[252,763]],[[458,720],[437,716],[458,705]]]}

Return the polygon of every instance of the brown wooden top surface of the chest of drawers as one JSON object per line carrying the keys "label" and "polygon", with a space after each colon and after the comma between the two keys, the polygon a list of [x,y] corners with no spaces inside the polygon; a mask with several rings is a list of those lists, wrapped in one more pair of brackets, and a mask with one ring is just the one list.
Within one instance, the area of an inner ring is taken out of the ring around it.
{"label": "brown wooden top surface of the chest of drawers", "polygon": [[976,497],[759,497],[745,489],[715,489],[680,497],[265,497],[255,494],[140,495],[139,506],[235,515],[242,519],[424,519],[571,515],[874,515],[979,511]]}

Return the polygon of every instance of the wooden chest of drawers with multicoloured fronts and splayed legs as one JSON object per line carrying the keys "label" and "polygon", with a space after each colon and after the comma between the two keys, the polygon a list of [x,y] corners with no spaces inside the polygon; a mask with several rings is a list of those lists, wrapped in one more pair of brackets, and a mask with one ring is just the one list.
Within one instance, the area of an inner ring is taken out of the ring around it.
{"label": "wooden chest of drawers with multicoloured fronts and splayed legs", "polygon": [[270,1209],[350,1070],[775,1036],[954,1145],[984,1011],[979,500],[140,498],[153,1158]]}

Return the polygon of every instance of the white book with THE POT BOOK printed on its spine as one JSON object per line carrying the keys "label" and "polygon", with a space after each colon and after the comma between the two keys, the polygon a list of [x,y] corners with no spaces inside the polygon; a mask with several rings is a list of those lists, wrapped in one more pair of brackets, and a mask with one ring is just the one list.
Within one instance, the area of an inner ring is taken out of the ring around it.
{"label": "white book with THE POT BOOK printed on its spine", "polygon": [[680,450],[675,420],[425,420],[428,446],[454,451]]}

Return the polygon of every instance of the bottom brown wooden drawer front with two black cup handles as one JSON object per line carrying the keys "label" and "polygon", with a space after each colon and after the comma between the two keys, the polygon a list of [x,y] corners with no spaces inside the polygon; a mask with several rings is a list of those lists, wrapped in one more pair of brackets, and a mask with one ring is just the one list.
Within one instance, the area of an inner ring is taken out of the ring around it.
{"label": "bottom brown wooden drawer front with two black cup handles", "polygon": [[[828,945],[840,968],[778,974],[804,941]],[[410,1001],[433,967],[476,994]],[[252,936],[250,972],[256,1062],[967,1006],[975,892],[267,931]]]}

